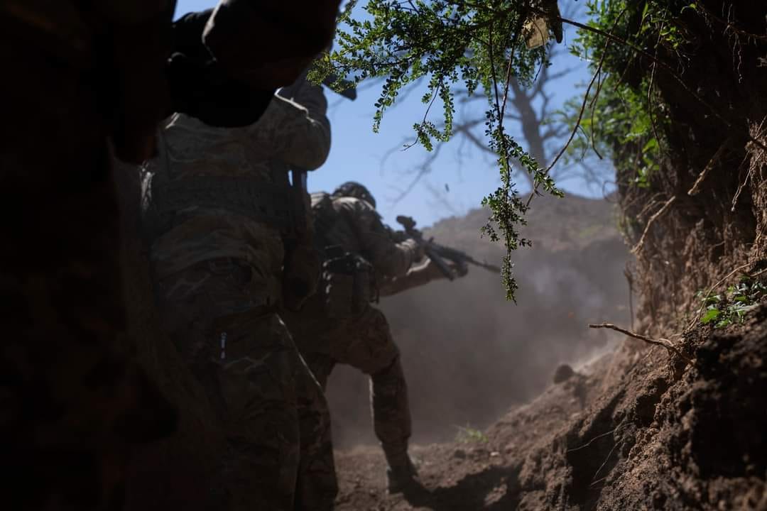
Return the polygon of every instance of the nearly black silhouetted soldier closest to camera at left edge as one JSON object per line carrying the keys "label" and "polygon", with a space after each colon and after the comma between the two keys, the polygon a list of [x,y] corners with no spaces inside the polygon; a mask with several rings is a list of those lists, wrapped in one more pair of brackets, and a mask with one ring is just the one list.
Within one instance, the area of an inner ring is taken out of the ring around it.
{"label": "nearly black silhouetted soldier closest to camera at left edge", "polygon": [[[338,4],[224,0],[206,27],[218,64],[206,67],[265,106],[328,43]],[[130,446],[173,430],[173,411],[122,352],[131,343],[110,153],[152,156],[157,123],[184,96],[166,81],[174,7],[0,3],[0,185],[14,211],[3,217],[0,274],[8,509],[121,509]],[[269,47],[287,33],[292,44]],[[258,115],[252,109],[250,122]]]}

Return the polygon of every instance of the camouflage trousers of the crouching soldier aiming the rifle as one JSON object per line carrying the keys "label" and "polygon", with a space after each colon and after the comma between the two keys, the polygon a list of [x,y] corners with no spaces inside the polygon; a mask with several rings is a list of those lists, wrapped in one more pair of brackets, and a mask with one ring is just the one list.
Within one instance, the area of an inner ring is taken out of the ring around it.
{"label": "camouflage trousers of the crouching soldier aiming the rifle", "polygon": [[296,346],[322,388],[336,364],[370,375],[370,408],[376,437],[391,467],[407,463],[411,434],[407,382],[389,323],[380,310],[366,306],[357,316],[337,319],[324,312],[321,296],[301,313],[286,313]]}

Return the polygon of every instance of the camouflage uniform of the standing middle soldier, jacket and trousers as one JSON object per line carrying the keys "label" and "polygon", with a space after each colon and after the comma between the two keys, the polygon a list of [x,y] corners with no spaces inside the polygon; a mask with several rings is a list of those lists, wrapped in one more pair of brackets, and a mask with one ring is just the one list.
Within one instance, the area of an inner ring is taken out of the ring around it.
{"label": "camouflage uniform of the standing middle soldier, jacket and trousers", "polygon": [[337,492],[321,388],[276,313],[283,236],[275,218],[248,210],[247,193],[287,190],[288,165],[315,169],[328,155],[321,87],[304,84],[295,100],[275,97],[242,128],[176,114],[149,169],[163,328],[226,436],[206,509],[332,509]]}

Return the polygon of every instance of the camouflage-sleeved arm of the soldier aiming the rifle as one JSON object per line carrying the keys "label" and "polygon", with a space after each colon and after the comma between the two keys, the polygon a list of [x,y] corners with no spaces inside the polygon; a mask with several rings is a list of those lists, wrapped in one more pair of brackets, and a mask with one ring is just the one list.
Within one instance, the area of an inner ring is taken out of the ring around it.
{"label": "camouflage-sleeved arm of the soldier aiming the rifle", "polygon": [[394,241],[377,212],[363,201],[351,202],[351,215],[362,255],[383,278],[403,277],[417,259],[417,244],[412,239]]}

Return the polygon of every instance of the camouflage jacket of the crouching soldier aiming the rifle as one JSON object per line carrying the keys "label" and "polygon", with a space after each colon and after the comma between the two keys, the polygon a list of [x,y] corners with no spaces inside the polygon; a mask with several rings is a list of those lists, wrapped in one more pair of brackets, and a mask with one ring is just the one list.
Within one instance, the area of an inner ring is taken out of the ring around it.
{"label": "camouflage jacket of the crouching soldier aiming the rifle", "polygon": [[379,280],[403,277],[416,257],[416,242],[396,241],[390,228],[366,201],[353,197],[311,195],[314,230],[319,243],[338,245],[373,265]]}

